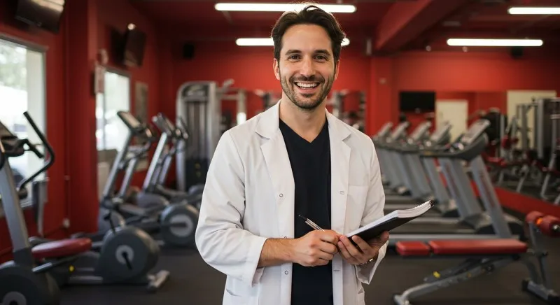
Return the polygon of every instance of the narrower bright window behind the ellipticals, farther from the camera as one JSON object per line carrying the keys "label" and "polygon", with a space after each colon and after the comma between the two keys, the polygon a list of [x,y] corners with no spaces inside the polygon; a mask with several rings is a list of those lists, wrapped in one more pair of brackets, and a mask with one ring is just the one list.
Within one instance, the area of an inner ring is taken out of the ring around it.
{"label": "narrower bright window behind the ellipticals, farther from the camera", "polygon": [[106,71],[105,92],[97,94],[97,150],[120,150],[126,141],[128,129],[117,111],[130,111],[130,78],[120,73]]}

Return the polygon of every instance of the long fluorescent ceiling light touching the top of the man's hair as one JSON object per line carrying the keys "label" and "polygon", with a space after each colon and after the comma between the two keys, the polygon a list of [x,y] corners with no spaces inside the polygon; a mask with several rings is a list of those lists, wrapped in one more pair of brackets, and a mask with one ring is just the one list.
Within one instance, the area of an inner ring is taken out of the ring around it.
{"label": "long fluorescent ceiling light touching the top of the man's hair", "polygon": [[[302,10],[311,3],[216,3],[216,10],[244,11],[244,12],[286,12],[288,10]],[[356,6],[350,4],[314,4],[329,13],[353,13]]]}

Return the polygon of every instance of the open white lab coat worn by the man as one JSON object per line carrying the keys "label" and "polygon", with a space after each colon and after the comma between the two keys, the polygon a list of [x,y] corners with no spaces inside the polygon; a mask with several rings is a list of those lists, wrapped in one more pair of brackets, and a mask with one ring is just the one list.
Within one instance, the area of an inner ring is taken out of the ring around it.
{"label": "open white lab coat worn by the man", "polygon": [[[221,137],[209,166],[197,248],[227,275],[224,305],[290,305],[292,264],[257,268],[267,238],[293,238],[294,181],[279,104]],[[372,140],[327,112],[331,153],[331,228],[348,233],[383,216],[385,194]],[[335,305],[362,305],[386,252],[365,267],[332,260]]]}

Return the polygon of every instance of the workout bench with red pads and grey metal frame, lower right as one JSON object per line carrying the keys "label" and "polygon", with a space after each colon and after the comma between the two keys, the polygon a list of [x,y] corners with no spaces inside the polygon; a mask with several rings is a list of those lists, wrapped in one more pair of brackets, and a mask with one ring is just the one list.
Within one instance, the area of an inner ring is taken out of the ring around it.
{"label": "workout bench with red pads and grey metal frame, lower right", "polygon": [[[423,284],[394,295],[393,301],[398,305],[411,305],[411,299],[426,295],[450,285],[468,281],[483,274],[489,274],[511,264],[522,262],[529,271],[529,278],[523,280],[522,289],[543,299],[547,304],[560,304],[559,295],[552,290],[550,275],[546,265],[547,251],[540,246],[540,234],[559,237],[560,219],[544,215],[538,211],[528,213],[525,218],[530,245],[517,239],[472,239],[472,240],[437,240],[399,241],[396,250],[402,257],[425,257],[437,259],[442,257],[464,258],[458,266],[434,272],[423,280]],[[536,257],[538,269],[529,259]]]}

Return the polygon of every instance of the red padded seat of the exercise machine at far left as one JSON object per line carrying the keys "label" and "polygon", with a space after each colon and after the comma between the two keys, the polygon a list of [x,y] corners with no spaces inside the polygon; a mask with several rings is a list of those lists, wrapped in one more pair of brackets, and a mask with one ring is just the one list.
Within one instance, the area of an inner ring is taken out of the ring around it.
{"label": "red padded seat of the exercise machine at far left", "polygon": [[65,257],[84,253],[92,247],[91,239],[63,239],[41,243],[31,249],[36,260],[53,257]]}

